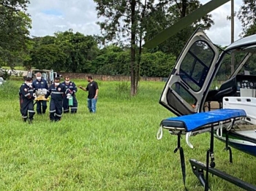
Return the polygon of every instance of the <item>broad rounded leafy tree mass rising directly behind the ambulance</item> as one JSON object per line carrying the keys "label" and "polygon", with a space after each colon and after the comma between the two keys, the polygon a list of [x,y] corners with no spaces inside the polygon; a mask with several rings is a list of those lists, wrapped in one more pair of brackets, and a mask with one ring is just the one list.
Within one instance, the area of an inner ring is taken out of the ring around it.
{"label": "broad rounded leafy tree mass rising directly behind the ambulance", "polygon": [[90,72],[91,61],[97,56],[97,39],[73,33],[72,29],[55,36],[33,37],[31,61],[24,66],[67,72]]}

